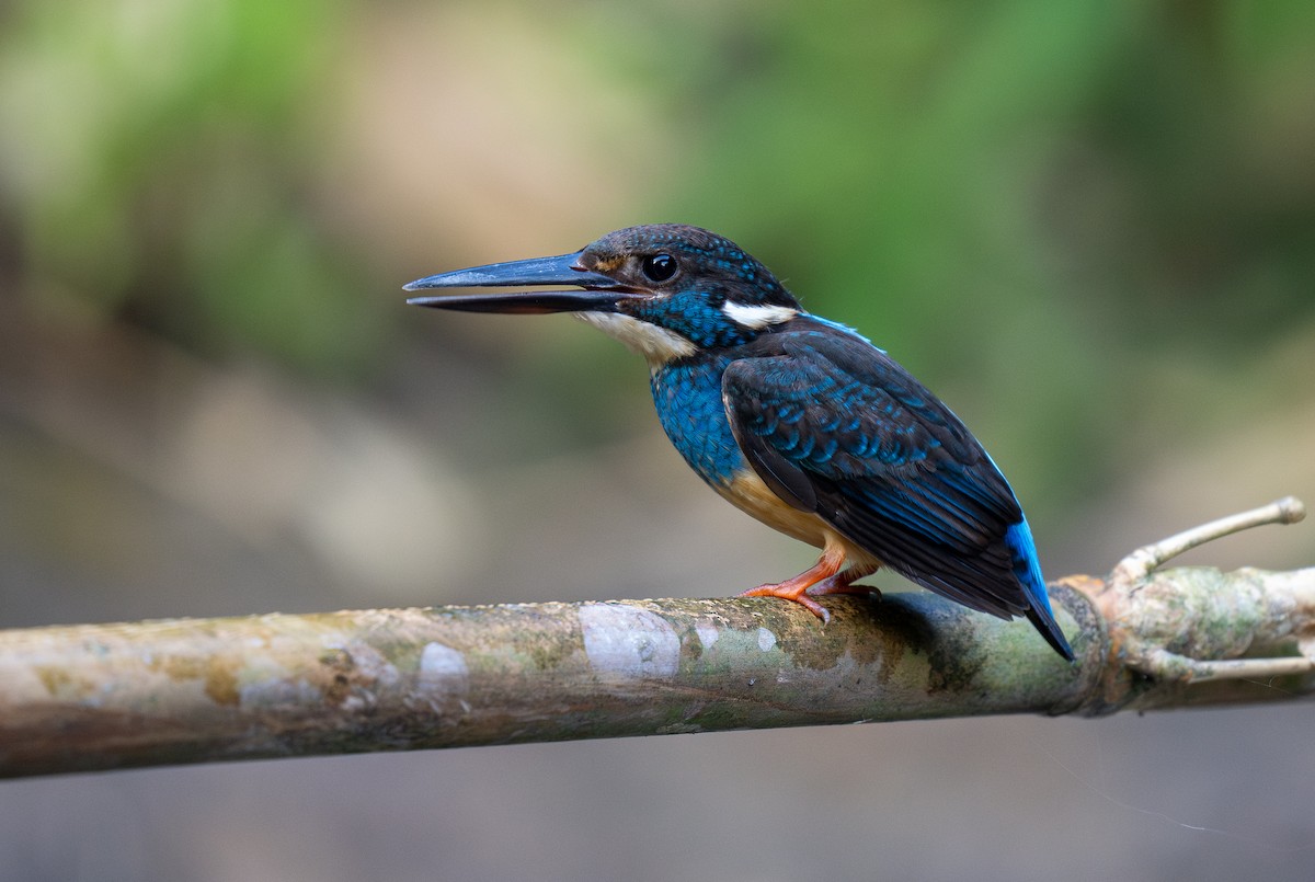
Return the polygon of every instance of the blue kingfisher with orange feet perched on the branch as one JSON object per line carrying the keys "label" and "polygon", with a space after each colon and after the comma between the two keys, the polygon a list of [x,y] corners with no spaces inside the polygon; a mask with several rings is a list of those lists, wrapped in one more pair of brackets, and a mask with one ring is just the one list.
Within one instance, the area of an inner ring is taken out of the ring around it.
{"label": "blue kingfisher with orange feet perched on the branch", "polygon": [[[569,288],[543,290],[544,288]],[[405,290],[475,313],[573,313],[644,358],[658,418],[725,499],[822,549],[742,597],[802,605],[868,594],[889,567],[968,609],[1026,616],[1065,660],[1018,498],[964,423],[881,348],[807,313],[734,242],[679,223],[633,226],[579,251],[456,269]]]}

